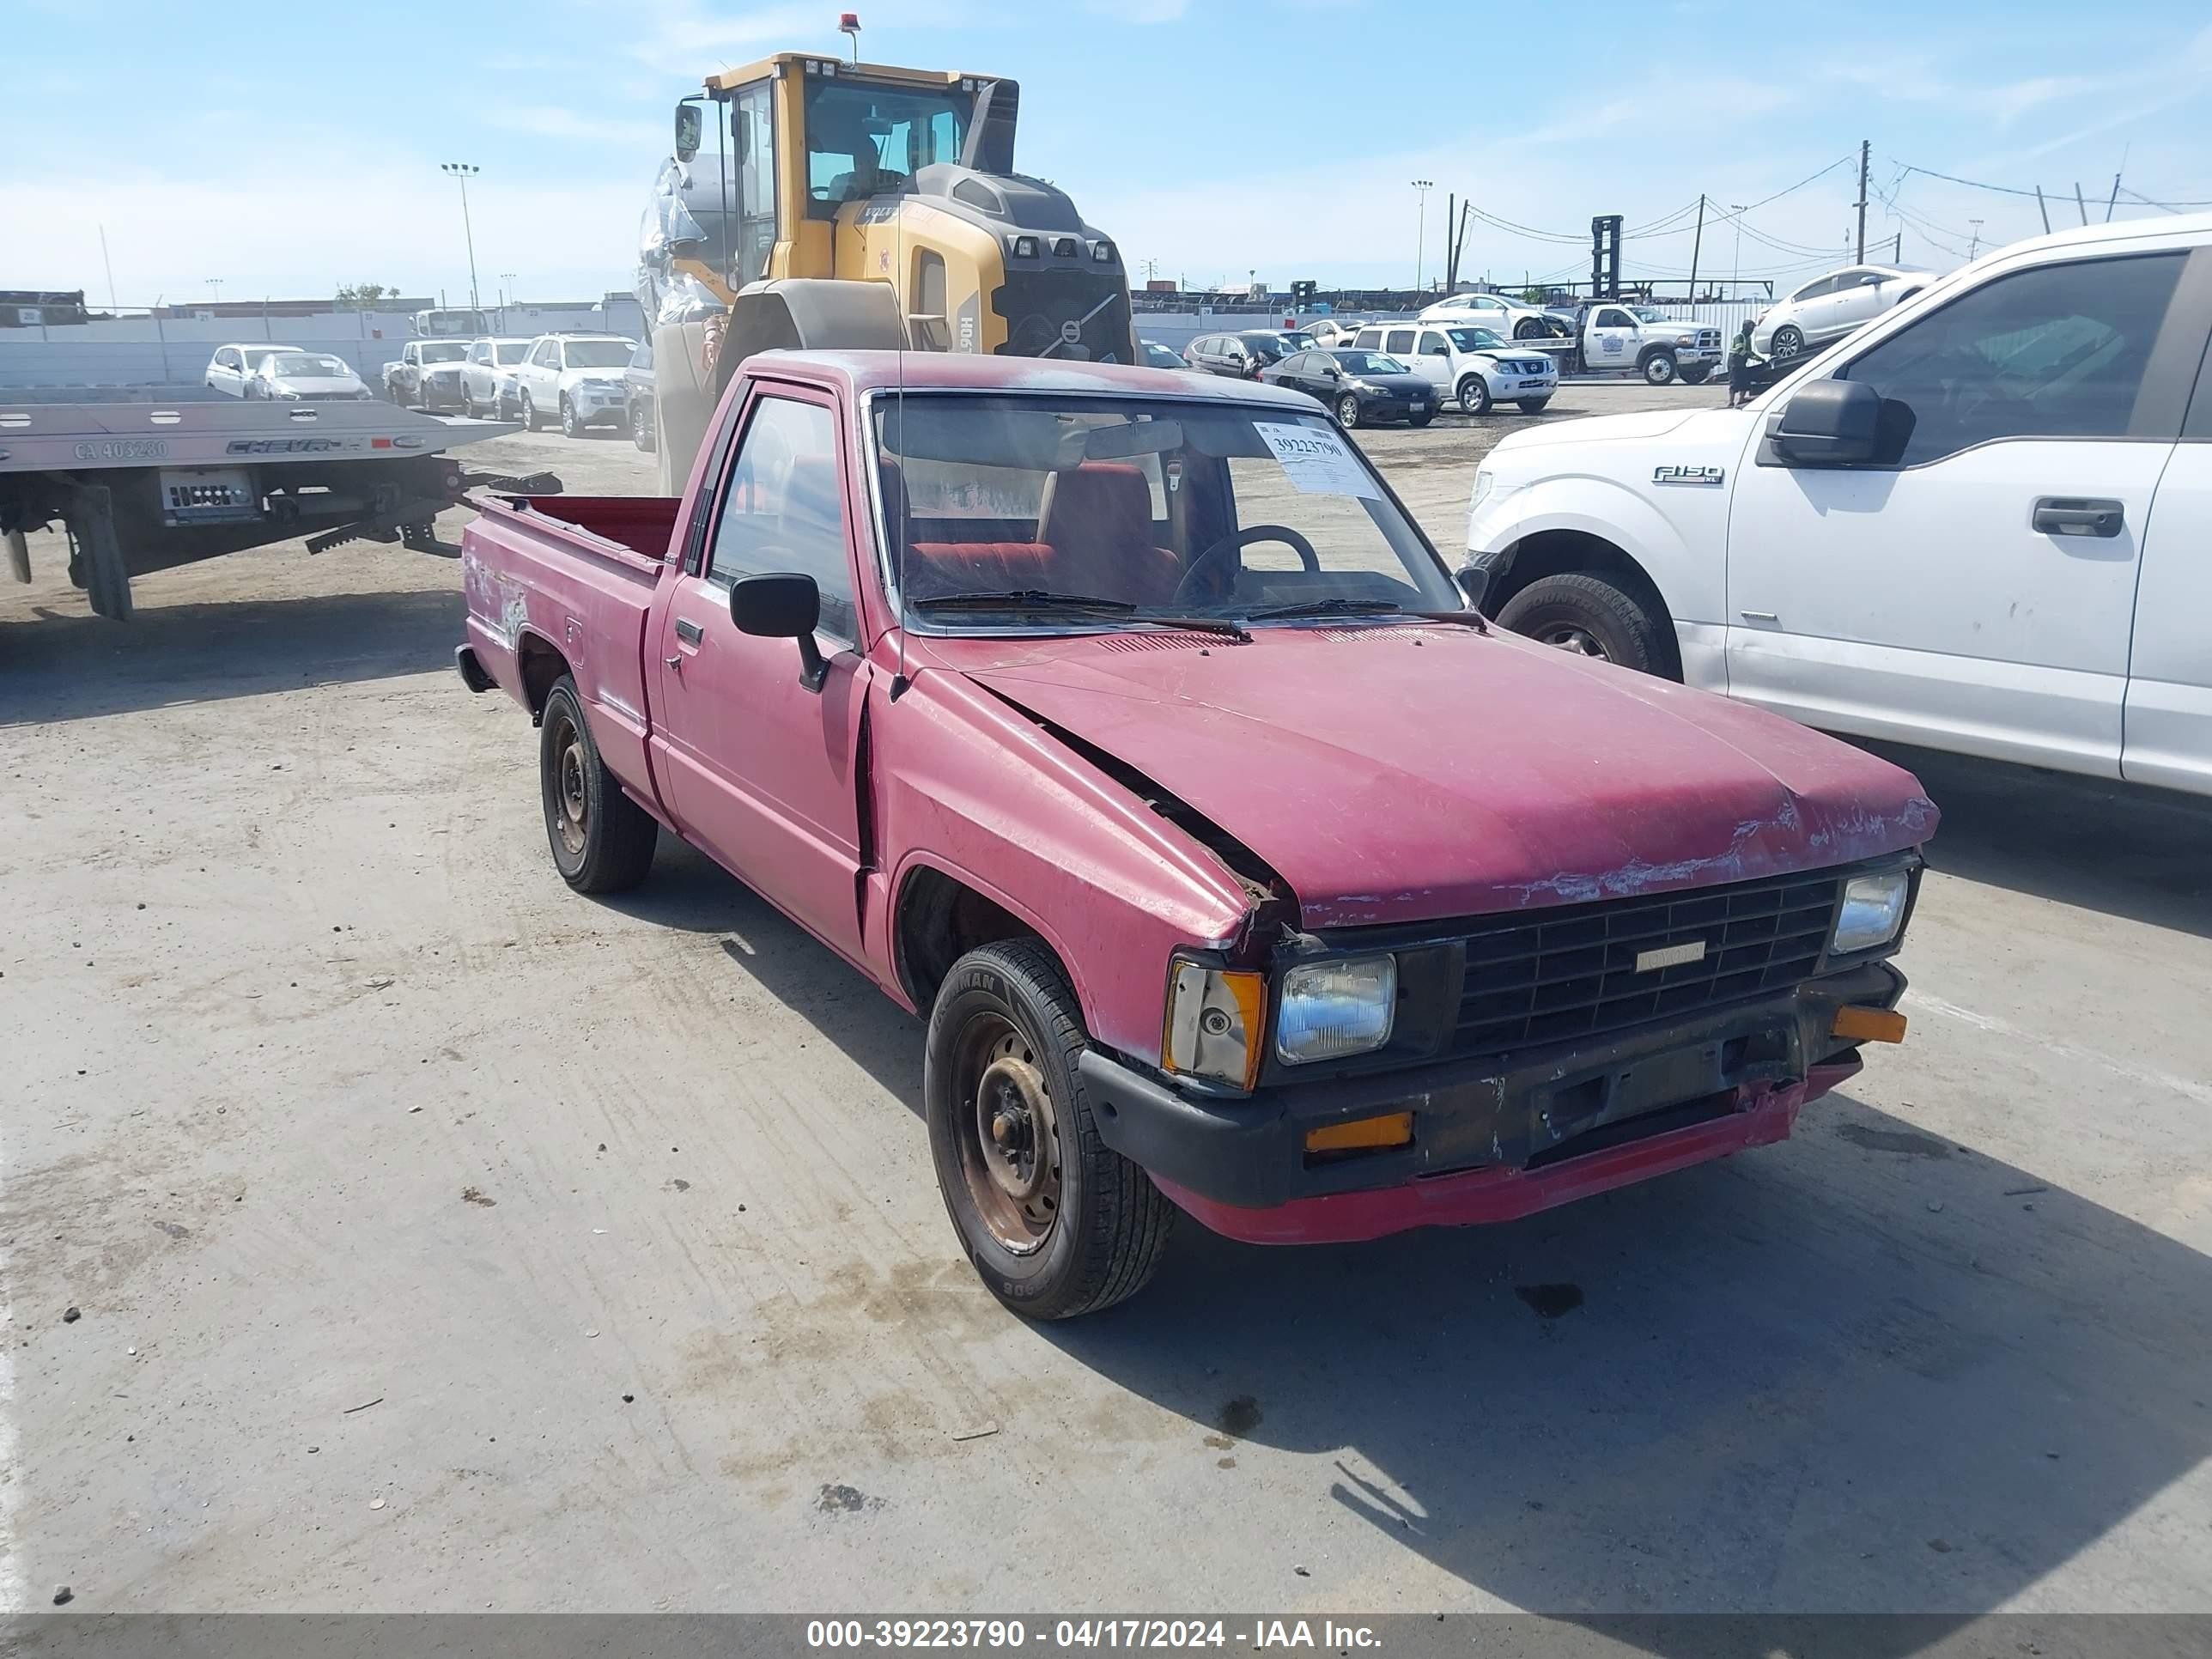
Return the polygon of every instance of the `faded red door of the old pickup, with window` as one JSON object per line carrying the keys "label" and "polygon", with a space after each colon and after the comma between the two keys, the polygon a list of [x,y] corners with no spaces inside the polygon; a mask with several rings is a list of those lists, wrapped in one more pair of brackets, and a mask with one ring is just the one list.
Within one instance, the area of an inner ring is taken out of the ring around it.
{"label": "faded red door of the old pickup, with window", "polygon": [[[675,577],[661,611],[657,732],[686,836],[858,960],[863,684],[836,431],[825,396],[754,392],[697,568]],[[732,582],[774,571],[801,571],[821,588],[821,690],[801,684],[794,641],[730,622]]]}

